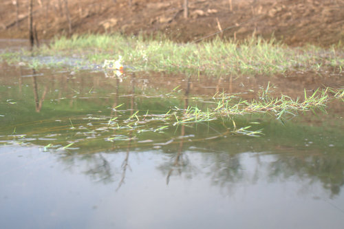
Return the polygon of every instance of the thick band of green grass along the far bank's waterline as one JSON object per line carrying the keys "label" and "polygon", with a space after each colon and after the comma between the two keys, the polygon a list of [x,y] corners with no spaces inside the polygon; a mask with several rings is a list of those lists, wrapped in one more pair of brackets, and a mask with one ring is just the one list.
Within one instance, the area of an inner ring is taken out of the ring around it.
{"label": "thick band of green grass along the far bank's waterline", "polygon": [[[287,70],[321,71],[334,67],[341,72],[343,50],[334,47],[291,48],[273,39],[211,41],[178,44],[168,39],[142,39],[119,35],[85,35],[61,37],[37,54],[79,56],[101,65],[105,59],[123,56],[125,65],[137,69],[171,72],[204,72],[205,74],[273,74]],[[1,54],[6,59],[6,54]],[[10,58],[10,57],[8,57]]]}

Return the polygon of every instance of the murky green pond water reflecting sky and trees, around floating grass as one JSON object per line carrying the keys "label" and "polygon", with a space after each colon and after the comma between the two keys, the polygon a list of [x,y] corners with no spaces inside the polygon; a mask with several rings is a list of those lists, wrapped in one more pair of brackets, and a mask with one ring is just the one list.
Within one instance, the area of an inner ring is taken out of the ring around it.
{"label": "murky green pond water reflecting sky and trees, around floating grass", "polygon": [[166,119],[222,92],[270,82],[296,98],[343,75],[1,69],[0,228],[343,228],[343,102],[284,122]]}

